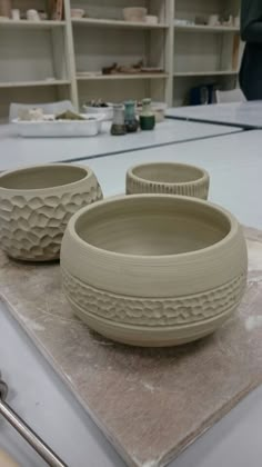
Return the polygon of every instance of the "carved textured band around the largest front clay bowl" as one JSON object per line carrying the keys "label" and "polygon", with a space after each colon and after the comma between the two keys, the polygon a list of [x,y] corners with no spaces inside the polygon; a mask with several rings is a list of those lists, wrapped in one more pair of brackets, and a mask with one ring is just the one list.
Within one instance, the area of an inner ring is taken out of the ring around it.
{"label": "carved textured band around the largest front clay bowl", "polygon": [[145,299],[109,294],[90,287],[62,269],[63,290],[70,302],[88,315],[134,326],[175,326],[203,321],[235,308],[246,277],[236,277],[203,294]]}

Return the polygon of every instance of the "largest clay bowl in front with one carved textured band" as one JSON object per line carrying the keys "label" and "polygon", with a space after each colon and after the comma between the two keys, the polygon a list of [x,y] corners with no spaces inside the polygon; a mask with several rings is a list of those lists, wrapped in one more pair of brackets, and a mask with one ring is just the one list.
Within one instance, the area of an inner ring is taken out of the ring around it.
{"label": "largest clay bowl in front with one carved textured band", "polygon": [[213,332],[246,282],[242,229],[196,198],[137,195],[81,209],[61,247],[74,314],[113,340],[173,346]]}

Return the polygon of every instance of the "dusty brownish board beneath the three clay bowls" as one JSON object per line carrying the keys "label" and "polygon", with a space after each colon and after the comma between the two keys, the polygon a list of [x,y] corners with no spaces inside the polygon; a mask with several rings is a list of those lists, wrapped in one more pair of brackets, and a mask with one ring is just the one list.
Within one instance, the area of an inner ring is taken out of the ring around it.
{"label": "dusty brownish board beneath the three clay bowls", "polygon": [[249,284],[213,336],[168,349],[111,342],[79,321],[59,265],[0,254],[1,299],[130,466],[163,466],[262,382],[262,232],[246,229]]}

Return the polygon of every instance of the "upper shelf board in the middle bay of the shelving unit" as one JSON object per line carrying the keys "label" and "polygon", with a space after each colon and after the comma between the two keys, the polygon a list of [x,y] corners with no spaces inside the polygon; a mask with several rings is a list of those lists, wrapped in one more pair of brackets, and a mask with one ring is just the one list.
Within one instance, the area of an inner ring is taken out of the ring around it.
{"label": "upper shelf board in the middle bay of the shelving unit", "polygon": [[128,28],[128,29],[168,29],[164,23],[149,24],[147,22],[131,22],[122,20],[97,19],[97,18],[72,18],[72,24],[101,26],[104,28]]}

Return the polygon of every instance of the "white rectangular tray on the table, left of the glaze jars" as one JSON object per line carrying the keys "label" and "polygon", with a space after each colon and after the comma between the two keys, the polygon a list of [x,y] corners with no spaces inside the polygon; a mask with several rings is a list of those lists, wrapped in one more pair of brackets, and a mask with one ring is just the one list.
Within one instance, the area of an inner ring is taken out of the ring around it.
{"label": "white rectangular tray on the table, left of the glaze jars", "polygon": [[[101,131],[104,115],[81,115],[84,120],[12,120],[13,132],[23,138],[91,137]],[[52,117],[52,116],[46,116]],[[90,120],[92,118],[92,120]]]}

